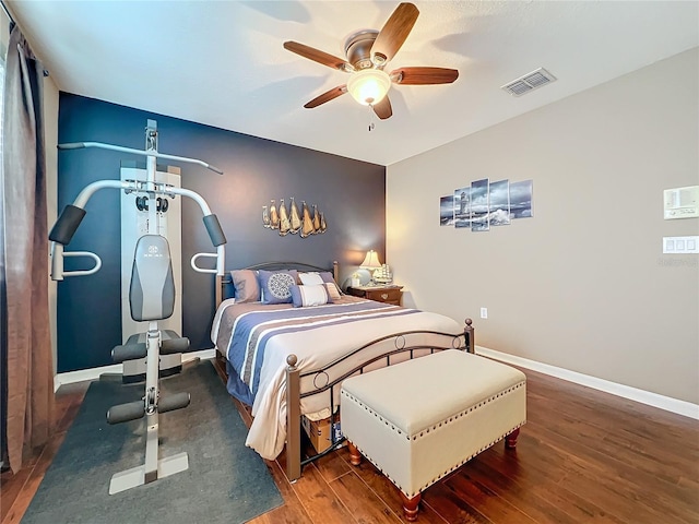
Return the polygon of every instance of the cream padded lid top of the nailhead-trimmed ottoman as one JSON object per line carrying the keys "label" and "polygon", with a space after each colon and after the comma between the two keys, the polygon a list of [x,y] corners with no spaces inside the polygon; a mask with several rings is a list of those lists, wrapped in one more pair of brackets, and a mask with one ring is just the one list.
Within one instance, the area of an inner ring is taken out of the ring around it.
{"label": "cream padded lid top of the nailhead-trimmed ottoman", "polygon": [[342,389],[410,437],[526,382],[510,366],[459,349],[351,377]]}

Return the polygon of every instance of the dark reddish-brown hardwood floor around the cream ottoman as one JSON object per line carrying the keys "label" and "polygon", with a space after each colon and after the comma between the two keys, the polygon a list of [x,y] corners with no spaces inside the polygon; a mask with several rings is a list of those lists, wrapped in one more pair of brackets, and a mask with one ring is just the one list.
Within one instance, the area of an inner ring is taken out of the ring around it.
{"label": "dark reddish-brown hardwood floor around the cream ottoman", "polygon": [[[528,424],[517,450],[498,443],[427,489],[418,522],[699,523],[699,421],[523,371]],[[86,388],[61,386],[51,442],[17,475],[2,474],[1,524],[21,521]],[[285,503],[252,524],[406,522],[393,485],[367,461],[350,465],[346,448],[293,485],[283,454],[266,465]]]}

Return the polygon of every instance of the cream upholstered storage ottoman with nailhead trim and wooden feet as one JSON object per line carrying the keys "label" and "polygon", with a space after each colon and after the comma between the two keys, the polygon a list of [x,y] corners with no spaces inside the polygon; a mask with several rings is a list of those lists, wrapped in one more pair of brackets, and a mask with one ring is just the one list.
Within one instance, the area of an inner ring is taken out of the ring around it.
{"label": "cream upholstered storage ottoman with nailhead trim and wooden feet", "polygon": [[503,438],[517,445],[526,377],[448,349],[346,379],[340,408],[352,463],[371,461],[400,489],[414,521],[434,483]]}

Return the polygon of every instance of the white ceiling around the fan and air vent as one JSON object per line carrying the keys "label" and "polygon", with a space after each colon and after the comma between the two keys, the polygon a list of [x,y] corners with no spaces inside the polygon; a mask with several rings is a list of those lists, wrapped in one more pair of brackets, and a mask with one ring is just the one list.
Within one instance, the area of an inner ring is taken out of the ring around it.
{"label": "white ceiling around the fan and air vent", "polygon": [[[697,1],[415,1],[386,70],[460,76],[393,85],[379,120],[350,95],[305,109],[348,75],[282,44],[344,58],[345,38],[380,29],[396,1],[4,2],[61,91],[384,166],[699,45]],[[558,80],[500,90],[540,67]]]}

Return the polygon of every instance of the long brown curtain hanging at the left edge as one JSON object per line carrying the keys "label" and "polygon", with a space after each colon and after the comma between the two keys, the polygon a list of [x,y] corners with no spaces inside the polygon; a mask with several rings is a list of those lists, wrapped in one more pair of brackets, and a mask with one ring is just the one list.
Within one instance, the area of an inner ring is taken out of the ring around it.
{"label": "long brown curtain hanging at the left edge", "polygon": [[43,68],[15,26],[4,81],[4,264],[0,272],[7,300],[2,308],[7,315],[2,341],[7,345],[7,451],[15,473],[35,448],[47,442],[55,418],[43,81]]}

